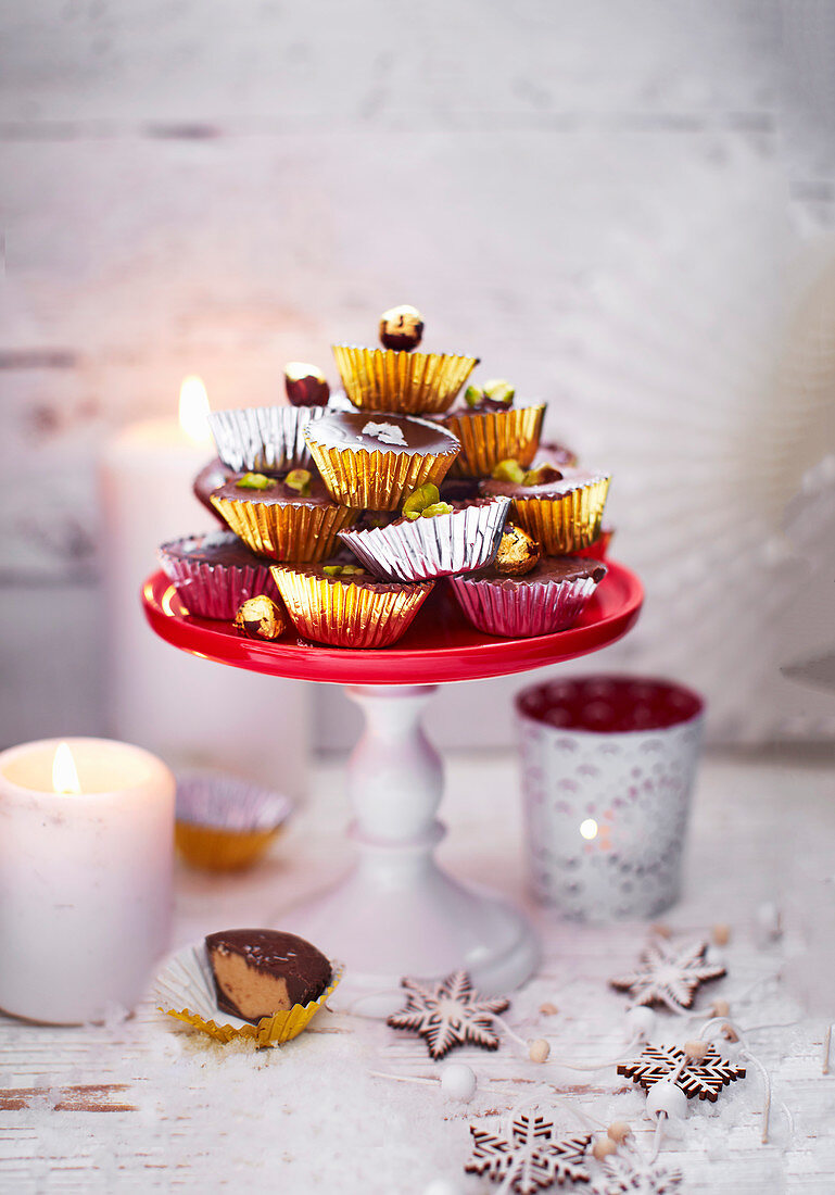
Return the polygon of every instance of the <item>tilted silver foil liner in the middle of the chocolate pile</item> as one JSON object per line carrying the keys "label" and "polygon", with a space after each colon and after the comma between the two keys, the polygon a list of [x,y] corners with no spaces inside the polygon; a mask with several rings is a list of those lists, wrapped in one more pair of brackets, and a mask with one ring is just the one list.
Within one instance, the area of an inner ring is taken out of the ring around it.
{"label": "tilted silver foil liner in the middle of the chocolate pile", "polygon": [[483,569],[496,556],[510,498],[473,502],[431,519],[340,531],[339,539],[376,577],[428,581]]}

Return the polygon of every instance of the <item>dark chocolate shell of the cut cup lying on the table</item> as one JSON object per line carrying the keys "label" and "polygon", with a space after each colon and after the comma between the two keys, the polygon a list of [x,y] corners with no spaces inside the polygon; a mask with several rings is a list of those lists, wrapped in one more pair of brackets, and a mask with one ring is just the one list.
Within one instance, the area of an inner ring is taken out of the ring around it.
{"label": "dark chocolate shell of the cut cup lying on the table", "polygon": [[[284,981],[290,1007],[294,1004],[306,1005],[311,1000],[318,1000],[332,978],[331,964],[321,950],[317,950],[295,933],[283,933],[278,930],[225,930],[207,934],[205,949],[213,966],[217,1006],[233,1017],[241,1017],[241,1012],[217,983],[213,962],[215,952],[238,955],[252,970]],[[270,1013],[265,1012],[262,1016]],[[260,1017],[242,1017],[242,1019],[257,1023]]]}

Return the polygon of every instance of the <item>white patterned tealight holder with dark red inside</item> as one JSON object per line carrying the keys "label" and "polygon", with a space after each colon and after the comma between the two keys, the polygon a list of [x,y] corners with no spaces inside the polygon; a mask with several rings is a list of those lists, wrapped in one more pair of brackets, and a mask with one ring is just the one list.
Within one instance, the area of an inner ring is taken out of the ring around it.
{"label": "white patterned tealight holder with dark red inside", "polygon": [[639,676],[516,695],[528,881],[575,920],[652,918],[681,887],[704,701]]}

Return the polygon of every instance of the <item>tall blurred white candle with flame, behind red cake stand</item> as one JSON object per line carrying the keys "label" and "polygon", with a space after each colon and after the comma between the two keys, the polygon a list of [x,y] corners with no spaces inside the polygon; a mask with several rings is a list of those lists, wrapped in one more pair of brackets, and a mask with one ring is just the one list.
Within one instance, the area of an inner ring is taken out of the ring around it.
{"label": "tall blurred white candle with flame, behind red cake stand", "polygon": [[142,613],[140,589],[159,568],[160,544],[220,529],[191,489],[215,454],[207,412],[202,384],[186,379],[179,423],[173,417],[134,423],[105,448],[108,729],[174,767],[220,767],[297,798],[306,788],[306,686],[178,651],[156,638]]}

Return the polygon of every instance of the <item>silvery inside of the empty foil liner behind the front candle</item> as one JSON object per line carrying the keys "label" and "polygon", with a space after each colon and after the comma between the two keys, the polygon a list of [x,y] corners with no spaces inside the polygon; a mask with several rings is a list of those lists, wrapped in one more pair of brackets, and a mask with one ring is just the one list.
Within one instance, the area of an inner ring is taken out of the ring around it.
{"label": "silvery inside of the empty foil liner behind the front candle", "polygon": [[222,772],[180,772],[177,777],[177,821],[229,831],[269,831],[293,813],[281,792]]}

